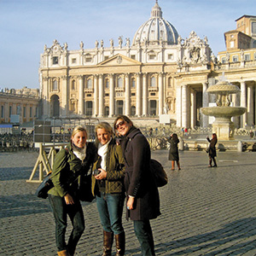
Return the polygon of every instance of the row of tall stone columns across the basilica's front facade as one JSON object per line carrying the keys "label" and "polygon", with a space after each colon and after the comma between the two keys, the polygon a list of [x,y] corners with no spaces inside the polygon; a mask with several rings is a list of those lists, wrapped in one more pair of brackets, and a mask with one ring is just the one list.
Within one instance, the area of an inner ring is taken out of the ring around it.
{"label": "row of tall stone columns across the basilica's front facade", "polygon": [[[116,78],[123,76],[123,86],[119,87],[116,84]],[[154,76],[156,78],[155,84],[150,84],[150,78]],[[86,83],[84,83],[87,77],[93,77],[93,88],[87,90]],[[117,102],[122,101],[123,109],[122,113],[126,115],[131,115],[131,107],[135,107],[136,115],[148,116],[149,113],[149,103],[154,100],[157,102],[155,109],[155,115],[160,115],[163,113],[164,107],[164,93],[166,87],[164,73],[110,73],[110,74],[94,74],[94,75],[79,75],[76,77],[77,80],[77,95],[76,101],[76,112],[78,114],[84,115],[85,108],[84,104],[88,101],[93,102],[93,113],[94,117],[105,116],[105,108],[108,107],[109,113],[108,117],[112,117],[117,113]],[[131,88],[131,78],[136,80],[135,88]],[[106,79],[109,81],[109,88],[106,88]],[[43,79],[44,90],[50,89],[50,83],[48,79]],[[68,116],[69,105],[70,105],[70,86],[71,79],[68,76],[61,76],[59,80],[60,86],[59,91],[56,93],[52,91],[52,94],[48,94],[48,102],[44,102],[44,114],[50,116],[50,96],[54,93],[59,96],[60,100],[60,114],[62,116]],[[90,92],[88,92],[90,91]],[[131,93],[133,92],[133,93]],[[90,96],[87,96],[90,94]],[[45,95],[45,94],[44,94]],[[47,94],[46,94],[47,95]]]}

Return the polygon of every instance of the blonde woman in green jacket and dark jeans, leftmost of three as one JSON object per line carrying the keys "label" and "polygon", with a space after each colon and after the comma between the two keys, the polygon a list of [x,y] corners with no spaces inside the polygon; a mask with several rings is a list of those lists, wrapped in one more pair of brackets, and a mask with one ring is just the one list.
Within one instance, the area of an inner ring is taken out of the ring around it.
{"label": "blonde woman in green jacket and dark jeans, leftmost of three", "polygon": [[[55,155],[52,171],[54,187],[49,189],[49,204],[55,218],[55,241],[58,255],[74,255],[84,232],[84,212],[79,201],[79,175],[88,172],[93,164],[96,147],[86,143],[87,131],[81,125],[73,129],[71,142]],[[66,244],[67,215],[73,230]]]}

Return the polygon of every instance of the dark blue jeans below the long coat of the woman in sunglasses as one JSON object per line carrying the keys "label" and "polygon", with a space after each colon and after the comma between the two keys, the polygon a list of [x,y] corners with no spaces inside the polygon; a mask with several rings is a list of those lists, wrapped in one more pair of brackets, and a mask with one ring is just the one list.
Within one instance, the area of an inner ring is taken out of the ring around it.
{"label": "dark blue jeans below the long coat of the woman in sunglasses", "polygon": [[134,220],[134,231],[142,249],[143,256],[154,254],[154,238],[149,220]]}

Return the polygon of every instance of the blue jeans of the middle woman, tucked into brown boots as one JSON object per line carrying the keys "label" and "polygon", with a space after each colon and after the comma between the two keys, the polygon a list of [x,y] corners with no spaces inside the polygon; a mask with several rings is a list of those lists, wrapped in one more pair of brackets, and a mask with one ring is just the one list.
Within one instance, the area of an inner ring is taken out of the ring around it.
{"label": "blue jeans of the middle woman, tucked into brown boots", "polygon": [[124,231],[122,215],[125,195],[122,193],[96,195],[96,205],[101,218],[103,230],[119,235]]}

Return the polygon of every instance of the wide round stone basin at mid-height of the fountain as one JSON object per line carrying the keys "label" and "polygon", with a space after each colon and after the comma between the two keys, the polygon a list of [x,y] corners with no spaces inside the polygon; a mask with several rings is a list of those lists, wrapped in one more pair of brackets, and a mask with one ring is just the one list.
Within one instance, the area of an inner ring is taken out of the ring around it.
{"label": "wide round stone basin at mid-height of the fountain", "polygon": [[243,107],[206,107],[201,108],[201,113],[220,118],[231,118],[232,116],[239,116],[247,111]]}

